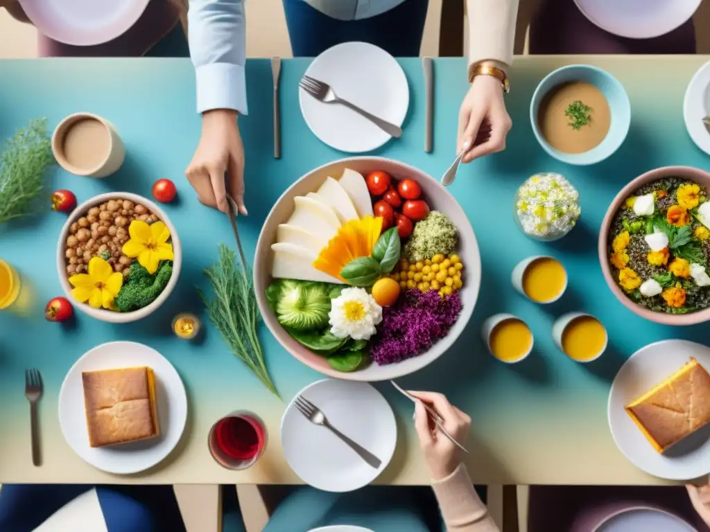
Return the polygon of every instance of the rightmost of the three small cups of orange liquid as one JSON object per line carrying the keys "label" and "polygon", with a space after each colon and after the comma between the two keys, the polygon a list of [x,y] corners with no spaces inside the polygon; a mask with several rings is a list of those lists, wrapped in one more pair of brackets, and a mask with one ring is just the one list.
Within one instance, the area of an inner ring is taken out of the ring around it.
{"label": "rightmost of the three small cups of orange liquid", "polygon": [[591,362],[601,357],[608,343],[601,321],[581,312],[559,316],[552,324],[552,338],[562,353],[577,362]]}

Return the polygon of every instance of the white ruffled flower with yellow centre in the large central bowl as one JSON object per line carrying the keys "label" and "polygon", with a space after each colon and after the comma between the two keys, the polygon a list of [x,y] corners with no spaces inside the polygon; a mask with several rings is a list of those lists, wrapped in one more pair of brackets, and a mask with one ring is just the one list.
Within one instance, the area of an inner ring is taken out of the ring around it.
{"label": "white ruffled flower with yellow centre in the large central bowl", "polygon": [[382,321],[382,307],[364,288],[346,288],[332,300],[330,332],[338,338],[369,340]]}

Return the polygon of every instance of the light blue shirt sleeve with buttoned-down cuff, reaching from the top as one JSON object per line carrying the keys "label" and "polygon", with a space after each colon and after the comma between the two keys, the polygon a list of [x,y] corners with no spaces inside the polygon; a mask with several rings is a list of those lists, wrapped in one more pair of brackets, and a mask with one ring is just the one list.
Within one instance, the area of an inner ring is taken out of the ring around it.
{"label": "light blue shirt sleeve with buttoned-down cuff, reaching from the top", "polygon": [[197,112],[234,109],[246,114],[244,0],[190,0],[187,27]]}

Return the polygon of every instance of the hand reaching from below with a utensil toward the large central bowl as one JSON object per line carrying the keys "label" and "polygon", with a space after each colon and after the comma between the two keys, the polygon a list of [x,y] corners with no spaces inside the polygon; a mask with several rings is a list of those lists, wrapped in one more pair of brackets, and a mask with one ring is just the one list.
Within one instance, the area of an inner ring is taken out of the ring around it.
{"label": "hand reaching from below with a utensil toward the large central bowl", "polygon": [[463,444],[469,434],[471,418],[449,403],[442,394],[409,392],[418,400],[415,405],[414,425],[417,428],[424,458],[432,479],[441,480],[451,475],[461,463],[461,450],[439,431],[424,408],[422,401],[432,406],[443,420],[446,431]]}

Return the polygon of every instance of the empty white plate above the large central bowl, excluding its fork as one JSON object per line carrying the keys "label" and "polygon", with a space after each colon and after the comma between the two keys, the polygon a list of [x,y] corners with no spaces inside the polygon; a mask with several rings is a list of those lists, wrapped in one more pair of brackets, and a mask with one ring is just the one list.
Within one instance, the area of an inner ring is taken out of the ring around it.
{"label": "empty white plate above the large central bowl, excluding its fork", "polygon": [[[409,107],[409,85],[397,60],[368,43],[342,43],[315,58],[306,75],[329,84],[342,99],[402,126]],[[298,89],[308,127],[324,143],[348,153],[364,153],[392,137],[352,109],[324,104]]]}

